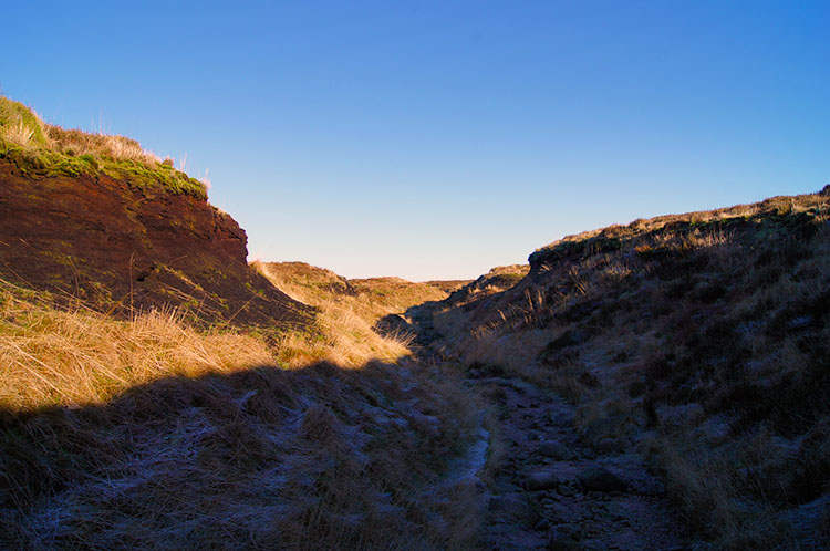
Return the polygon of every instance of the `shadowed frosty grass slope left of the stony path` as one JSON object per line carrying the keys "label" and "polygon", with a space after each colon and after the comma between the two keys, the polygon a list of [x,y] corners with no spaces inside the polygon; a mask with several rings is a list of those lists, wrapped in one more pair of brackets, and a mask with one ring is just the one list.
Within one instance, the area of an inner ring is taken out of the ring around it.
{"label": "shadowed frosty grass slope left of the stony path", "polygon": [[0,548],[440,548],[463,407],[417,366],[168,377],[0,410]]}

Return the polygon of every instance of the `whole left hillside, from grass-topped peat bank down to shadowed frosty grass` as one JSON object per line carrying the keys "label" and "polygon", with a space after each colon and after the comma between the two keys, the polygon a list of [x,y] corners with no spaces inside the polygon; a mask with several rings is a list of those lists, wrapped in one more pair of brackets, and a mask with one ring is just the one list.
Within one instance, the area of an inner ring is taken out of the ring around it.
{"label": "whole left hillside, from grass-topped peat bank down to shadowed frosty grass", "polygon": [[363,318],[412,285],[311,308],[246,256],[172,162],[0,97],[0,548],[474,541],[475,401]]}

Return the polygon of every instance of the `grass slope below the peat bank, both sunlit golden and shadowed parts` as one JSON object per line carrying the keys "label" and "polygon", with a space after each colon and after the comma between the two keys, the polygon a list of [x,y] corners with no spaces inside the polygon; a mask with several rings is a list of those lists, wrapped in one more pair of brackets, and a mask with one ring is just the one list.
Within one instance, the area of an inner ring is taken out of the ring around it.
{"label": "grass slope below the peat bank, both sunlit golden and shadowed parts", "polygon": [[0,282],[0,547],[470,547],[477,490],[445,477],[479,408],[319,305],[268,345]]}

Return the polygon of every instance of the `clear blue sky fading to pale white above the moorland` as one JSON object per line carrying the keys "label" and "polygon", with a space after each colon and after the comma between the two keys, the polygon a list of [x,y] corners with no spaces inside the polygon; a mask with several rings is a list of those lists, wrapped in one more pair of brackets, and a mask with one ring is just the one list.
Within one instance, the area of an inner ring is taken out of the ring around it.
{"label": "clear blue sky fading to pale white above the moorland", "polygon": [[827,1],[243,3],[11,2],[0,91],[187,155],[251,258],[346,277],[830,181]]}

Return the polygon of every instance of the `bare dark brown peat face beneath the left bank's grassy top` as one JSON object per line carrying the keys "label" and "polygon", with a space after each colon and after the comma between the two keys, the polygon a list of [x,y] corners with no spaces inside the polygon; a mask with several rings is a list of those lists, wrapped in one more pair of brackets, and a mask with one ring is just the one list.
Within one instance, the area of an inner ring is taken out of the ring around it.
{"label": "bare dark brown peat face beneath the left bank's grassy top", "polygon": [[0,159],[0,277],[124,315],[302,324],[310,309],[247,263],[245,230],[205,199],[106,175],[32,176]]}

